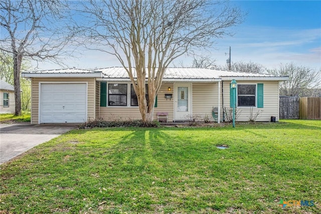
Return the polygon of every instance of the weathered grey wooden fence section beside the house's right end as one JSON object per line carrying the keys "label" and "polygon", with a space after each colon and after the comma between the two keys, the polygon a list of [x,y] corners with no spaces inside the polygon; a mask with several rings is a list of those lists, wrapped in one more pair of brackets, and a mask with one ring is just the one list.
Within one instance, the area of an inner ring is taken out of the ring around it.
{"label": "weathered grey wooden fence section beside the house's right end", "polygon": [[299,97],[280,96],[280,119],[299,119]]}

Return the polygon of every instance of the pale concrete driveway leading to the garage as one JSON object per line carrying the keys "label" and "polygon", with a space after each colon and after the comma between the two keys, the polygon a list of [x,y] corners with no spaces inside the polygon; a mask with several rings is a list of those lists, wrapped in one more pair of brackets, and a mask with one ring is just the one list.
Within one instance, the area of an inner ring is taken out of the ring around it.
{"label": "pale concrete driveway leading to the garage", "polygon": [[0,164],[49,141],[77,124],[0,124]]}

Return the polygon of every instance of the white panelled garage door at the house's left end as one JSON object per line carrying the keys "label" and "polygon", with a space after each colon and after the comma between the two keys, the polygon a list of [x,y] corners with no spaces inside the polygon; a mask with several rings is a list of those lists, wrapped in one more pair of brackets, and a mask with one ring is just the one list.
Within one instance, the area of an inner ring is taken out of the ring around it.
{"label": "white panelled garage door at the house's left end", "polygon": [[86,83],[41,84],[40,123],[83,123],[86,118]]}

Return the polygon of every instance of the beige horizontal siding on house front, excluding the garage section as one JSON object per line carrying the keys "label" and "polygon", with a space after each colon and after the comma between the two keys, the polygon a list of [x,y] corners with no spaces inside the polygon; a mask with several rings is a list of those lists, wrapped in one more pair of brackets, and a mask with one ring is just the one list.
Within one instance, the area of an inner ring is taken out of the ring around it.
{"label": "beige horizontal siding on house front, excluding the garage section", "polygon": [[[221,83],[220,90],[218,83],[193,83],[192,84],[192,106],[193,117],[199,121],[204,121],[207,115],[211,121],[214,121],[212,116],[213,107],[218,107],[218,93],[220,93],[220,109],[221,120],[223,119],[223,107],[230,108],[230,82],[224,81]],[[239,84],[257,84],[255,81],[238,81]],[[270,121],[271,116],[275,116],[278,121],[278,82],[277,81],[262,81],[263,83],[263,108],[253,108],[254,115],[256,112],[261,111],[256,121]],[[99,84],[98,84],[99,85]],[[223,85],[223,96],[222,96]],[[168,87],[172,91],[168,91]],[[165,83],[162,85],[161,90],[157,96],[157,107],[154,108],[154,119],[157,119],[157,112],[168,112],[169,121],[174,120],[174,99],[166,100],[165,94],[171,93],[175,95],[174,84]],[[97,99],[96,99],[97,100]],[[98,110],[97,110],[98,109]],[[239,107],[240,115],[237,121],[250,120],[250,108]],[[98,113],[97,113],[98,112]],[[96,116],[102,117],[105,120],[128,120],[128,119],[141,119],[138,107],[99,107],[99,102],[96,102]]]}

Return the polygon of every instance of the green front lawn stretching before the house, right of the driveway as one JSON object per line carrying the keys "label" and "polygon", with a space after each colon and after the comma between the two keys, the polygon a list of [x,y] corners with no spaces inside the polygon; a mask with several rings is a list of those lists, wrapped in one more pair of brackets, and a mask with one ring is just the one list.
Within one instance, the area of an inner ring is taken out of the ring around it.
{"label": "green front lawn stretching before the house, right of the driveway", "polygon": [[0,213],[320,213],[321,121],[73,130],[1,177]]}

